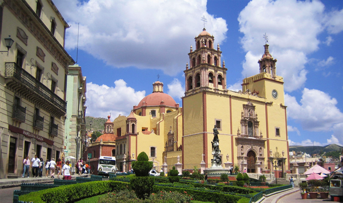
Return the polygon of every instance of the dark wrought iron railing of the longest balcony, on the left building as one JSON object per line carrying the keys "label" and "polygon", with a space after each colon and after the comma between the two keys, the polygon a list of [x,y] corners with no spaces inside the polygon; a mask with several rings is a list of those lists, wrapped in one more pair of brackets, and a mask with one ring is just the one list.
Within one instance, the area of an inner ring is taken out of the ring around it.
{"label": "dark wrought iron railing of the longest balcony, on the left building", "polygon": [[20,81],[22,84],[26,85],[28,88],[32,89],[46,100],[50,101],[58,109],[66,112],[67,103],[65,100],[61,99],[54,92],[52,92],[48,87],[43,85],[41,82],[36,80],[35,77],[27,73],[24,69],[18,66],[15,62],[6,62],[5,77],[13,77]]}

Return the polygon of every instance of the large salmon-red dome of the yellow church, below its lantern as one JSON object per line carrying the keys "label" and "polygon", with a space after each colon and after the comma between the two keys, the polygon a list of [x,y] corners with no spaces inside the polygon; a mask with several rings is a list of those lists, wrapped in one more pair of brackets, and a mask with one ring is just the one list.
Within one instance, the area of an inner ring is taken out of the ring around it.
{"label": "large salmon-red dome of the yellow church, below its lantern", "polygon": [[143,106],[143,102],[145,101],[145,106],[160,106],[161,101],[164,101],[164,105],[175,107],[176,102],[169,94],[163,92],[152,92],[151,94],[145,96],[140,103],[138,104],[138,108]]}

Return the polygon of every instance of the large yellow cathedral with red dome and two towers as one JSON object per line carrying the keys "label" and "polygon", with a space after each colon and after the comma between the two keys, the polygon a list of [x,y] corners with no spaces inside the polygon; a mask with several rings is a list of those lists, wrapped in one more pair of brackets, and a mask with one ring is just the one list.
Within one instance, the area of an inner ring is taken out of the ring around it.
{"label": "large yellow cathedral with red dome and two towers", "polygon": [[214,48],[214,37],[204,28],[188,54],[182,107],[157,81],[129,116],[114,119],[118,170],[129,170],[126,162],[142,151],[157,170],[174,165],[181,170],[208,168],[216,125],[223,168],[238,165],[247,173],[276,170],[278,177],[290,173],[284,82],[276,75],[276,59],[268,46],[257,61],[259,74],[245,78],[240,91],[231,91],[220,46]]}

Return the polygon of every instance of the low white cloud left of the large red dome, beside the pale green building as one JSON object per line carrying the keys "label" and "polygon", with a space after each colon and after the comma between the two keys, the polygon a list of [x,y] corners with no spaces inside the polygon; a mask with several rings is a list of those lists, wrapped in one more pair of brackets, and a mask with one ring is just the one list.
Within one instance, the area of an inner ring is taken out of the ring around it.
{"label": "low white cloud left of the large red dome, beside the pale green building", "polygon": [[128,116],[133,106],[145,96],[145,91],[135,91],[123,80],[116,80],[115,87],[87,83],[86,114],[93,117],[106,118],[111,113],[112,118],[119,114]]}

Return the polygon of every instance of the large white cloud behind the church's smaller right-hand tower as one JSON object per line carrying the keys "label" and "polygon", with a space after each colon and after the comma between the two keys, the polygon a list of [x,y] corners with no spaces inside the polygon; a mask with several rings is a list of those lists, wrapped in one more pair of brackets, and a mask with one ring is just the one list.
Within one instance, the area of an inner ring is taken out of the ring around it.
{"label": "large white cloud behind the church's smaller right-hand tower", "polygon": [[[307,55],[319,49],[319,34],[343,29],[343,10],[325,13],[320,1],[253,0],[240,12],[241,44],[246,51],[242,76],[259,72],[258,59],[263,54],[263,34],[269,38],[269,52],[278,59],[277,75],[284,77],[285,90],[302,88],[306,81]],[[328,37],[326,44],[332,38]],[[330,62],[330,61],[326,61]]]}

